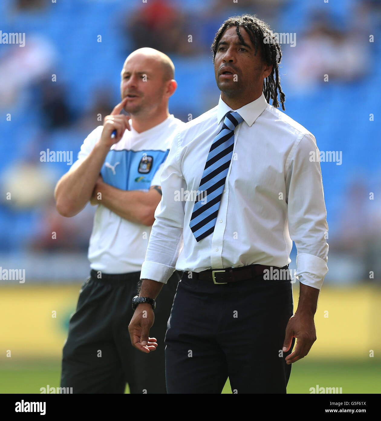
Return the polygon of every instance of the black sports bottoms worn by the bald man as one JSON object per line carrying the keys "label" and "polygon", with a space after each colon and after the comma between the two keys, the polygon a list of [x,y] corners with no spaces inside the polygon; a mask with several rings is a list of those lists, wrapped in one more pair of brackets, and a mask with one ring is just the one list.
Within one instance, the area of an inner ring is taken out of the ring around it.
{"label": "black sports bottoms worn by the bald man", "polygon": [[71,316],[62,357],[61,387],[73,393],[167,393],[164,337],[181,272],[175,271],[163,286],[155,309],[150,337],[155,351],[145,354],[131,344],[128,325],[134,311],[140,272],[120,275],[91,271]]}

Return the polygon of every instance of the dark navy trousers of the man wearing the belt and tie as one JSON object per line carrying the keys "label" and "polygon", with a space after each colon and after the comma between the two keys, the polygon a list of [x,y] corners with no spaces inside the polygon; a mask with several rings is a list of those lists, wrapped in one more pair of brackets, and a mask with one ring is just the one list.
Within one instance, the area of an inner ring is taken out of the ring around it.
{"label": "dark navy trousers of the man wearing the belt and tie", "polygon": [[286,393],[285,358],[295,342],[282,352],[293,315],[290,280],[259,275],[214,285],[188,276],[177,286],[165,336],[167,392],[221,393],[229,377],[233,393]]}

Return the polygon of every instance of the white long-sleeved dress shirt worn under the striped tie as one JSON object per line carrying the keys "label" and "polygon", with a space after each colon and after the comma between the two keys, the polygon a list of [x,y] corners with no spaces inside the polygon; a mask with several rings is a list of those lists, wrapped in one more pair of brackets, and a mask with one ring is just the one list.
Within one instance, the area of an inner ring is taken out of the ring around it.
{"label": "white long-sleeved dress shirt worn under the striped tie", "polygon": [[195,194],[186,191],[198,190],[210,146],[228,111],[220,97],[217,107],[175,134],[161,173],[163,195],[140,279],[166,283],[175,269],[283,267],[291,261],[294,240],[295,275],[320,289],[328,272],[328,225],[320,163],[310,160],[312,152],[319,154],[315,137],[268,104],[263,93],[234,110],[243,122],[234,131],[217,222],[212,234],[196,242],[189,226]]}

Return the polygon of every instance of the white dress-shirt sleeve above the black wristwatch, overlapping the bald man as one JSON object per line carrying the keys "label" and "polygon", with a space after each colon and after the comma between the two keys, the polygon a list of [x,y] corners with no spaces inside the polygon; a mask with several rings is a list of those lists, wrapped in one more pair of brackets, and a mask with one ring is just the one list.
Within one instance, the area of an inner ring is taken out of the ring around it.
{"label": "white dress-shirt sleeve above the black wristwatch, overlapping the bald man", "polygon": [[155,210],[146,258],[140,279],[167,283],[176,269],[177,257],[183,246],[184,208],[181,194],[186,183],[179,159],[180,133],[176,133],[161,173],[161,201]]}

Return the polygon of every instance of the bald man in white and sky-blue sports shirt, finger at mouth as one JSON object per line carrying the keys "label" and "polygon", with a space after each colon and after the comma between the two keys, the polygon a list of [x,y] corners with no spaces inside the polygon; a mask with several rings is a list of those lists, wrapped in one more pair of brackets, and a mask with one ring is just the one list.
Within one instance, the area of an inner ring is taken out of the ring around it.
{"label": "bald man in white and sky-blue sports shirt, finger at mouth", "polygon": [[[166,393],[164,343],[177,283],[176,272],[155,309],[157,337],[147,355],[132,347],[128,324],[141,265],[161,200],[160,175],[170,138],[184,123],[168,112],[174,66],[165,54],[140,48],[127,57],[122,101],[90,133],[78,160],[55,190],[58,212],[97,206],[88,258],[90,277],[79,293],[63,349],[61,387],[73,393]],[[122,110],[128,117],[121,114]],[[115,136],[115,137],[114,137]]]}

